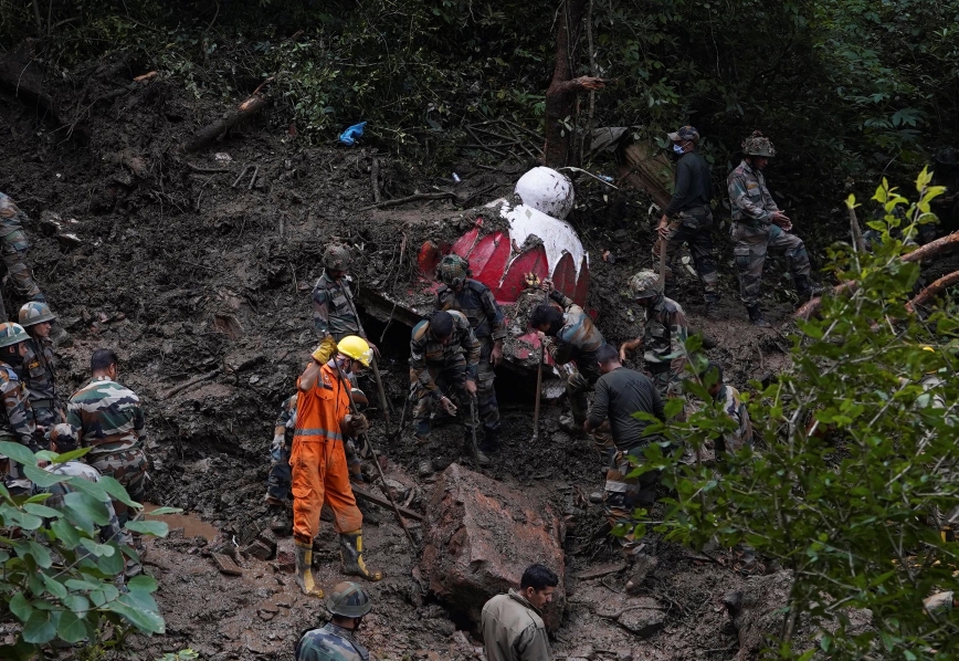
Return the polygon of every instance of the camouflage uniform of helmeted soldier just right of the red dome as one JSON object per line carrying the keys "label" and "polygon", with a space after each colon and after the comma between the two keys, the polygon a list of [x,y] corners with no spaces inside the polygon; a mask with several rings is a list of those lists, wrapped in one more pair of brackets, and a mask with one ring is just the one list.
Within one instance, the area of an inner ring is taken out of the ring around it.
{"label": "camouflage uniform of helmeted soldier just right of the red dome", "polygon": [[643,324],[644,371],[662,397],[682,390],[683,368],[686,366],[684,347],[689,335],[686,313],[678,303],[658,294],[656,302],[645,311]]}

